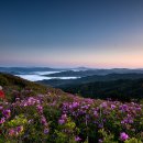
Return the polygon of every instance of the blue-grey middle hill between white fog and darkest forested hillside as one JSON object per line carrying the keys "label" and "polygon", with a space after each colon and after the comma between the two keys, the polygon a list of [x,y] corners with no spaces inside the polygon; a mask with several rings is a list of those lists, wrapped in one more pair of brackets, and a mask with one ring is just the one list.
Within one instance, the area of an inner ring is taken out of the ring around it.
{"label": "blue-grey middle hill between white fog and darkest forested hillside", "polygon": [[50,80],[41,80],[37,82],[44,85],[51,85],[52,87],[69,87],[72,85],[80,85],[80,84],[88,84],[95,81],[110,81],[110,80],[118,80],[118,79],[140,79],[143,78],[143,74],[108,74],[108,75],[94,75],[81,77],[77,79],[50,79]]}

